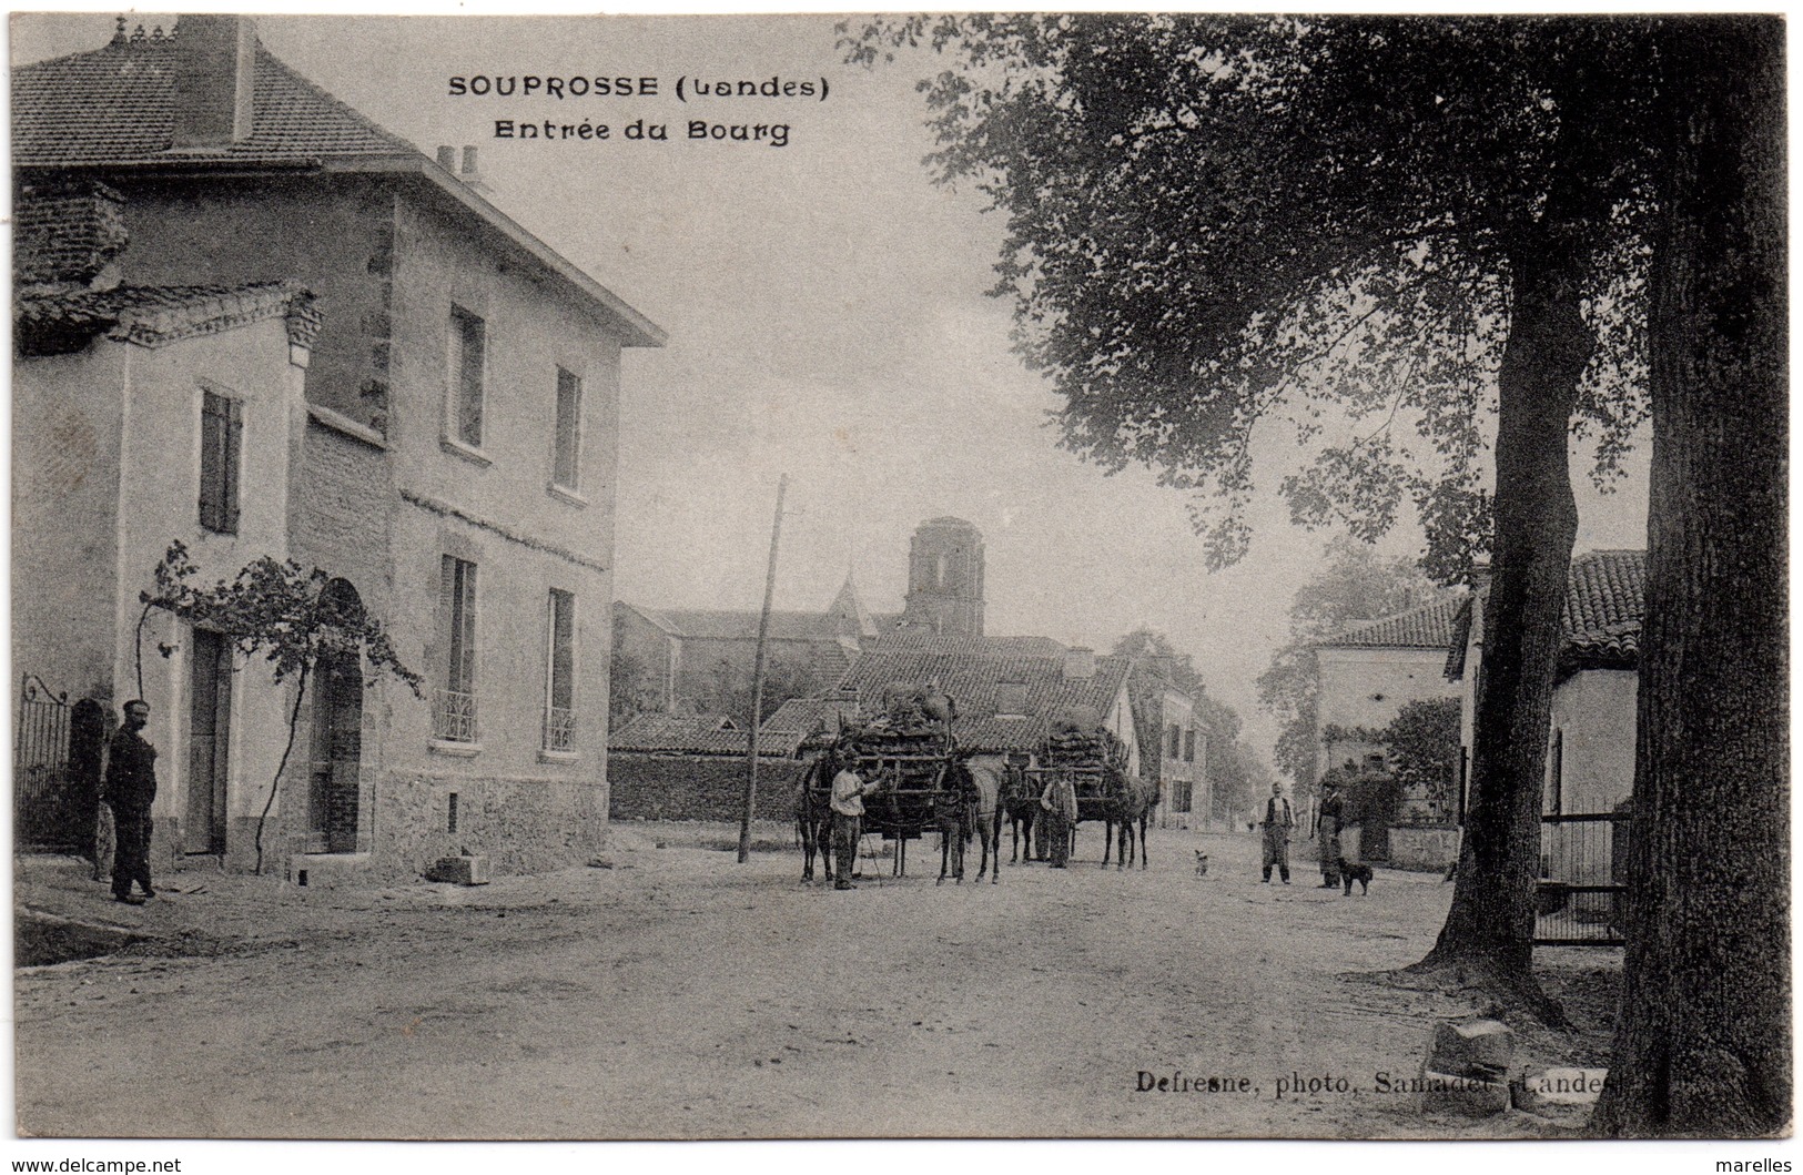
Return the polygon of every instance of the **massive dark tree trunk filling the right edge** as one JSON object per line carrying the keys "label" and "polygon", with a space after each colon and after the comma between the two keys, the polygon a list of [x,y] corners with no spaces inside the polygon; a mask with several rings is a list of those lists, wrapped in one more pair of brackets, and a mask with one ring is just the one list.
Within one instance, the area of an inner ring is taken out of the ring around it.
{"label": "massive dark tree trunk filling the right edge", "polygon": [[1790,1121],[1783,23],[1673,29],[1621,1020],[1596,1128]]}

